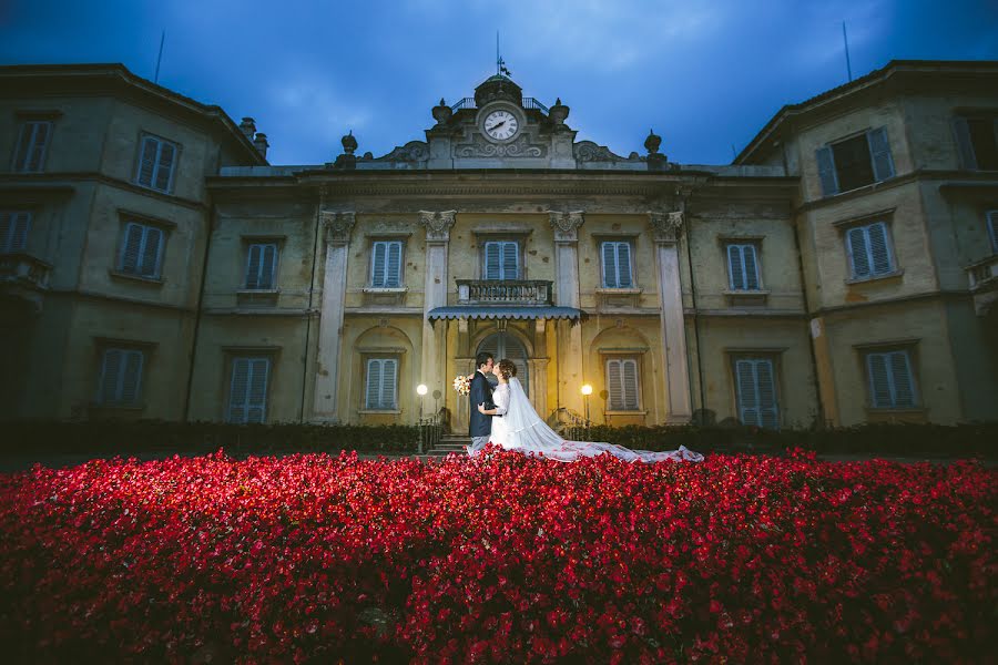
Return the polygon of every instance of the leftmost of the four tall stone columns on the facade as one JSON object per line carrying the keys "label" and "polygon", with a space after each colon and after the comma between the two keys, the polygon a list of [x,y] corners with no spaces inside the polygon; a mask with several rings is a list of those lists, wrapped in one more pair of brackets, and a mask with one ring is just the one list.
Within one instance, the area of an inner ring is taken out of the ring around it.
{"label": "leftmost of the four tall stone columns on the facade", "polygon": [[322,219],[326,244],[326,270],[323,279],[323,311],[319,317],[313,419],[337,422],[340,420],[338,381],[343,308],[354,213],[323,211]]}

